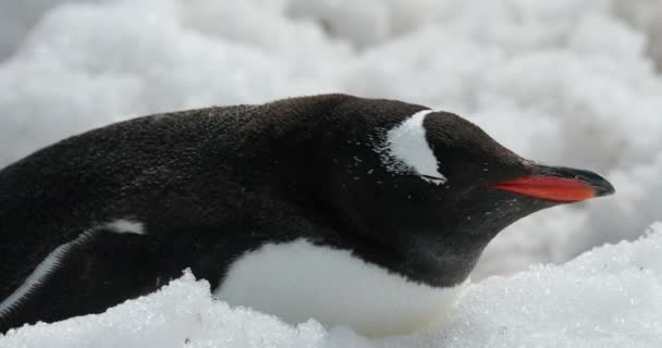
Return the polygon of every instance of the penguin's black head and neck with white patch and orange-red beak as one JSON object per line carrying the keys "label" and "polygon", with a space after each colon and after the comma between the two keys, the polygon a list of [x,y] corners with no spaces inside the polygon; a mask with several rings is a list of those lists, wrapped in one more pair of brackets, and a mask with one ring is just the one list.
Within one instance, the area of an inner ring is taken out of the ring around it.
{"label": "penguin's black head and neck with white patch and orange-red beak", "polygon": [[614,192],[598,174],[523,159],[448,112],[415,111],[355,144],[361,154],[345,156],[331,184],[335,211],[363,240],[388,246],[401,273],[432,285],[464,281],[515,221]]}

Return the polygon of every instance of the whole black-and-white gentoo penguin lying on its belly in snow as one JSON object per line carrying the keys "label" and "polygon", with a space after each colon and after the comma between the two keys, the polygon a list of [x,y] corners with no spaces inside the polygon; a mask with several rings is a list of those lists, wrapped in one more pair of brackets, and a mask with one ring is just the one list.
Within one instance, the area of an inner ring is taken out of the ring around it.
{"label": "whole black-and-white gentoo penguin lying on its belly in snow", "polygon": [[189,269],[287,322],[405,333],[453,306],[505,226],[613,192],[394,100],[134,119],[0,172],[0,331],[102,312]]}

